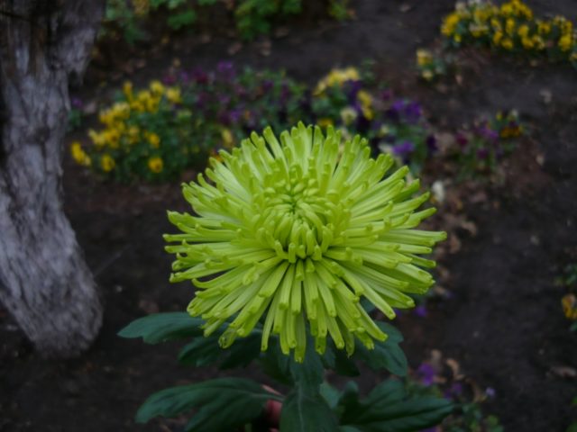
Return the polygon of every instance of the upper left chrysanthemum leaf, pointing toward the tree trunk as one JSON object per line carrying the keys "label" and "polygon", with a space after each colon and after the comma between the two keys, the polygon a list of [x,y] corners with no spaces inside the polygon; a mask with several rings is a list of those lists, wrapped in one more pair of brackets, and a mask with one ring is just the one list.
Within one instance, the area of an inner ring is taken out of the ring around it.
{"label": "upper left chrysanthemum leaf, pointing toward the tree trunk", "polygon": [[186,312],[154,313],[133,320],[118,332],[121,338],[142,338],[147,344],[202,335],[203,321]]}

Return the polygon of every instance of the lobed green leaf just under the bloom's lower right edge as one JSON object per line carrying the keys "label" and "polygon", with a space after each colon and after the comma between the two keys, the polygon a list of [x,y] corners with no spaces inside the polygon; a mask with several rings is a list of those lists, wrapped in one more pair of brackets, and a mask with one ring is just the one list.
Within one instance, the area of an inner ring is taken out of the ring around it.
{"label": "lobed green leaf just under the bloom's lower right edge", "polygon": [[393,326],[384,322],[377,322],[379,328],[389,335],[384,342],[376,341],[374,349],[368,349],[362,344],[355,347],[353,358],[359,358],[371,369],[379,371],[386,369],[391,374],[406,376],[408,362],[403,350],[398,346],[403,336]]}

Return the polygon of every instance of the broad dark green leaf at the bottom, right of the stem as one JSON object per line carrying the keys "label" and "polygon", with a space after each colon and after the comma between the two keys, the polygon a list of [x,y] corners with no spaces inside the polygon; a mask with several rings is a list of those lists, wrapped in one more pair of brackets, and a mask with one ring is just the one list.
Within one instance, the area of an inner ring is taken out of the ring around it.
{"label": "broad dark green leaf at the bottom, right of the stem", "polygon": [[402,383],[380,383],[363,401],[346,392],[339,401],[342,425],[361,432],[413,432],[439,424],[453,410],[451,401],[408,397]]}

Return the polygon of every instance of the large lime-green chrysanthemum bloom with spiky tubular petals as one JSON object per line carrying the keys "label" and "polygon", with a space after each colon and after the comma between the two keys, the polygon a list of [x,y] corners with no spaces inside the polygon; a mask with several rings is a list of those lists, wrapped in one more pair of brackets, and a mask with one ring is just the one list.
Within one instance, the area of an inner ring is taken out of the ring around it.
{"label": "large lime-green chrysanthemum bloom with spiky tubular petals", "polygon": [[[229,347],[264,317],[261,349],[279,335],[285,354],[302,361],[307,328],[316,351],[330,336],[349,354],[354,339],[374,347],[387,335],[362,308],[365,297],[389,319],[395,308],[414,306],[408,293],[434,284],[418,257],[446,237],[413,229],[435,209],[416,211],[428,193],[412,197],[408,168],[384,177],[392,158],[370,157],[365,139],[341,145],[302,123],[290,133],[252,133],[222,162],[211,160],[206,177],[184,184],[197,216],[169,212],[181,234],[167,235],[177,254],[171,281],[192,280],[198,290],[188,306],[206,320],[209,335],[229,321],[220,338]],[[217,275],[214,278],[206,276]],[[202,279],[201,279],[202,278]]]}

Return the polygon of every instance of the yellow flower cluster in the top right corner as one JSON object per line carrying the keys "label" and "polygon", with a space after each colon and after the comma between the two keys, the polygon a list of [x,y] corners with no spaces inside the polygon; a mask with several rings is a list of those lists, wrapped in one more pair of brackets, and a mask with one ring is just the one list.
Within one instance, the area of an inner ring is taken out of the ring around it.
{"label": "yellow flower cluster in the top right corner", "polygon": [[539,19],[520,0],[500,6],[470,0],[458,3],[441,26],[453,47],[476,45],[534,57],[569,60],[577,67],[577,33],[563,16]]}

